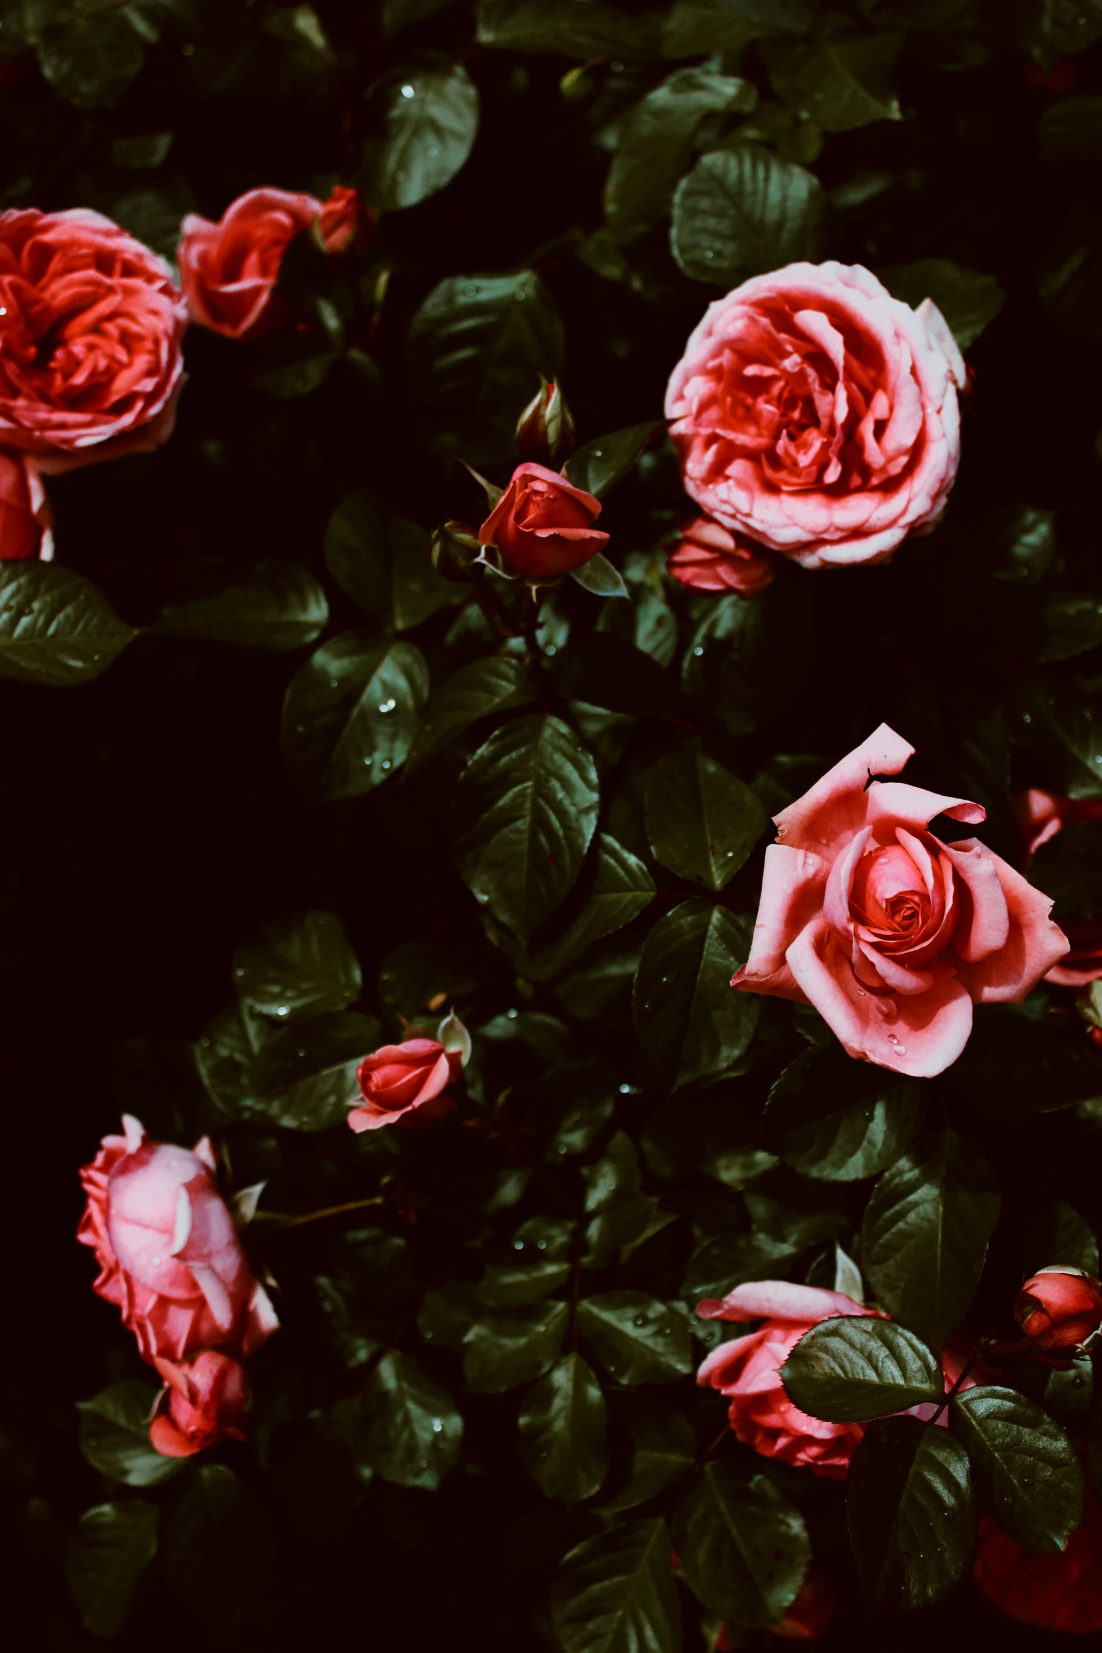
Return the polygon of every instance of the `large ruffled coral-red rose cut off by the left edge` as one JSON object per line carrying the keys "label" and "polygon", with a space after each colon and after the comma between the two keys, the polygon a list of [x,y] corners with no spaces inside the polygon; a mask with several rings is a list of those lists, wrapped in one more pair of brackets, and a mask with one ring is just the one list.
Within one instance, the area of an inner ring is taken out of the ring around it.
{"label": "large ruffled coral-red rose cut off by the left edge", "polygon": [[185,326],[169,266],[117,223],[0,213],[0,445],[59,471],[167,441]]}

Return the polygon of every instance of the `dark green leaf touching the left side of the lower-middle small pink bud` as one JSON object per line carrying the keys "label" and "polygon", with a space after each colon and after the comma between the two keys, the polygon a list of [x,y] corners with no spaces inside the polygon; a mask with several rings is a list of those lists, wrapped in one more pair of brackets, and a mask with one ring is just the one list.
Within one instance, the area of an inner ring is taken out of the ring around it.
{"label": "dark green leaf touching the left side of the lower-middle small pink bud", "polygon": [[259,1053],[249,1116],[287,1131],[340,1124],[360,1096],[355,1069],[378,1041],[378,1022],[352,1010],[283,1028]]}

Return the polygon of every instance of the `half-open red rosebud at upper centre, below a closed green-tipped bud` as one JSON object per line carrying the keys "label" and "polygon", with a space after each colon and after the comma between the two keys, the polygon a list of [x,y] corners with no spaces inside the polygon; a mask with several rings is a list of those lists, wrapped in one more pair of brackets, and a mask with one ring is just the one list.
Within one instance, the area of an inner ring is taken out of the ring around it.
{"label": "half-open red rosebud at upper centre, below a closed green-tipped bud", "polygon": [[497,545],[514,574],[553,580],[608,544],[608,534],[590,527],[600,514],[600,499],[567,476],[544,464],[519,464],[477,537],[482,545]]}

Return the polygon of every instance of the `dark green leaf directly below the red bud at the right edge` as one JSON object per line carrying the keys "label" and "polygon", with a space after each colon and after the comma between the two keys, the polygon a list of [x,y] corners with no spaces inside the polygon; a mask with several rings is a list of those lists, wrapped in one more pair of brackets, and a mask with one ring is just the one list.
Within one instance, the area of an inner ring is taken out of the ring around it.
{"label": "dark green leaf directly below the red bud at the right edge", "polygon": [[1084,1479],[1059,1423],[1013,1389],[970,1389],[948,1408],[983,1501],[1026,1549],[1057,1554],[1082,1521]]}

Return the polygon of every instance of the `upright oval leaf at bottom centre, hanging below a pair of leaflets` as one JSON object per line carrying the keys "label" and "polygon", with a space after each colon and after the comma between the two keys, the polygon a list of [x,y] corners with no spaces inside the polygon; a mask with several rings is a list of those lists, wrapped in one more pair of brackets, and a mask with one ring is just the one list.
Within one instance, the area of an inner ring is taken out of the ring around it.
{"label": "upright oval leaf at bottom centre, hanging below a pair of leaflets", "polygon": [[608,1473],[608,1408],[578,1354],[565,1354],[520,1407],[520,1461],[547,1498],[575,1503],[600,1491]]}

